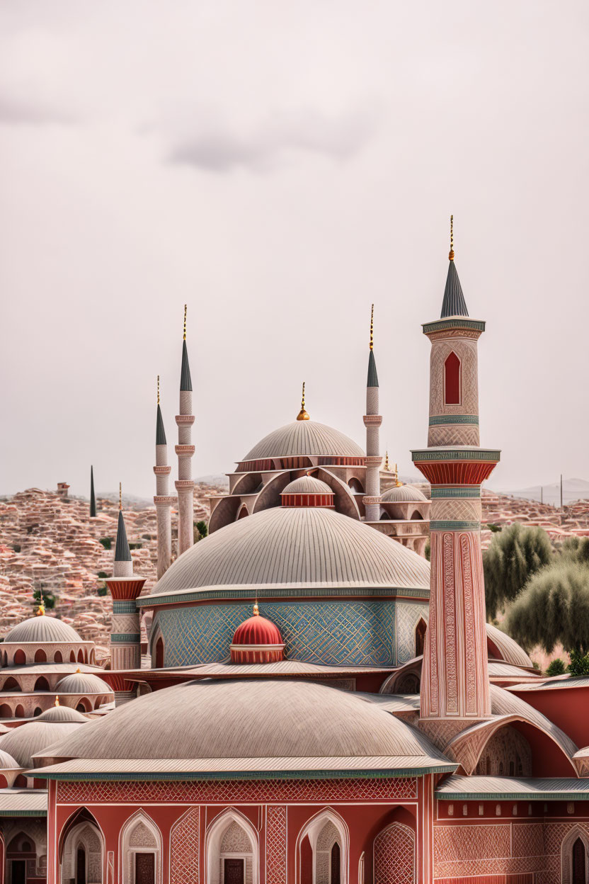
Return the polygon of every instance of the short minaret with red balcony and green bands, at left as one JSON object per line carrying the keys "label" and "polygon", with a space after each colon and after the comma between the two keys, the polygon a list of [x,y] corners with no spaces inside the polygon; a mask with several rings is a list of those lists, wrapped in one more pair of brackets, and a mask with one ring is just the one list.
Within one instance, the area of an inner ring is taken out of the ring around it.
{"label": "short minaret with red balcony and green bands, at left", "polygon": [[[127,542],[123,518],[123,498],[118,486],[118,523],[115,563],[112,577],[105,581],[112,596],[112,626],[110,631],[110,668],[140,669],[141,638],[140,615],[135,604],[145,580],[133,575],[131,550]],[[132,690],[115,690],[117,705],[134,697]]]}

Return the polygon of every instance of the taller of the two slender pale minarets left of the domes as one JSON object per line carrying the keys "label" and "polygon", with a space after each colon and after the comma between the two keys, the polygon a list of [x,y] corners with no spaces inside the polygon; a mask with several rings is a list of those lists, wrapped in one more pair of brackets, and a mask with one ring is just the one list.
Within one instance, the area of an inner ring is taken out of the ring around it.
{"label": "taller of the two slender pale minarets left of the domes", "polygon": [[180,414],[177,423],[177,497],[178,497],[178,555],[194,543],[194,483],[192,458],[193,382],[190,377],[188,350],[186,349],[186,305],[184,305],[184,341],[182,344],[182,369],[180,371]]}

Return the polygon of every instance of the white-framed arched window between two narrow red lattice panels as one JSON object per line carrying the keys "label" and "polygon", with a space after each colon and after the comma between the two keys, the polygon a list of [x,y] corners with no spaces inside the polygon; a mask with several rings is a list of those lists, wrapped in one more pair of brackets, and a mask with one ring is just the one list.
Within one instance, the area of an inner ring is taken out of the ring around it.
{"label": "white-framed arched window between two narrow red lattice panels", "polygon": [[258,838],[238,811],[225,811],[208,829],[208,884],[258,884]]}

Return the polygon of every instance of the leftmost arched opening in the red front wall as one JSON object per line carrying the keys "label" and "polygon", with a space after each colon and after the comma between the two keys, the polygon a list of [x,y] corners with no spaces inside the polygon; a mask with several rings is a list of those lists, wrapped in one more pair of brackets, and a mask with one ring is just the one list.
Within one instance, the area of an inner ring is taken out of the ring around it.
{"label": "leftmost arched opening in the red front wall", "polygon": [[86,810],[76,813],[64,828],[62,884],[102,884],[102,832]]}

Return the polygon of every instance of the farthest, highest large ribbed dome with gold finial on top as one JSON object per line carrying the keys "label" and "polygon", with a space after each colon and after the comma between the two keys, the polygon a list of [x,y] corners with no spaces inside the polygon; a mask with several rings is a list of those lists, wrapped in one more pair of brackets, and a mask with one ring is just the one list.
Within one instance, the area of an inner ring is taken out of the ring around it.
{"label": "farthest, highest large ribbed dome with gold finial on top", "polygon": [[333,427],[317,421],[292,421],[261,439],[245,454],[244,461],[266,457],[295,457],[305,454],[340,454],[342,457],[365,457],[359,445]]}

